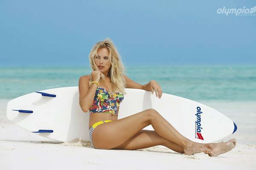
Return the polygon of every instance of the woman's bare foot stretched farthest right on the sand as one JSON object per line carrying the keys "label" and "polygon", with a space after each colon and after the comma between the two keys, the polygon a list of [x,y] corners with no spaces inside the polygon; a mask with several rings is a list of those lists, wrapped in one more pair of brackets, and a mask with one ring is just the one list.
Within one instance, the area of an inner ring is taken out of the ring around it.
{"label": "woman's bare foot stretched farthest right on the sand", "polygon": [[212,154],[209,156],[218,156],[220,154],[226,153],[232,150],[236,146],[236,139],[231,139],[227,142],[219,142],[213,143],[210,145],[210,149],[212,150]]}

